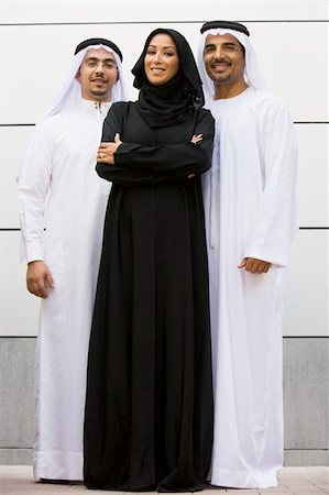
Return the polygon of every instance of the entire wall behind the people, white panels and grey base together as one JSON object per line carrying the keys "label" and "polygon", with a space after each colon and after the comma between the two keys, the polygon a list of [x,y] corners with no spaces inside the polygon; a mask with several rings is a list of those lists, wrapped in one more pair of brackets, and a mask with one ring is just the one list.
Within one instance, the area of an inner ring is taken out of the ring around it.
{"label": "entire wall behind the people, white panels and grey base together", "polygon": [[284,316],[285,459],[287,465],[328,463],[328,3],[168,0],[1,2],[0,464],[31,462],[39,301],[26,293],[18,261],[15,176],[33,124],[81,40],[118,43],[131,86],[130,69],[154,28],[180,31],[196,51],[199,28],[210,19],[246,24],[268,87],[295,122],[300,230]]}

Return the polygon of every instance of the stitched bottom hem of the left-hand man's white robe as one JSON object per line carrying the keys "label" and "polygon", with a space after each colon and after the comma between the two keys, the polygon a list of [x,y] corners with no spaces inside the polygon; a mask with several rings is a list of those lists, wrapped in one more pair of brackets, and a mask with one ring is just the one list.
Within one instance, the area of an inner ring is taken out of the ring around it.
{"label": "stitched bottom hem of the left-hand man's white robe", "polygon": [[83,481],[81,452],[33,452],[33,476],[36,480]]}

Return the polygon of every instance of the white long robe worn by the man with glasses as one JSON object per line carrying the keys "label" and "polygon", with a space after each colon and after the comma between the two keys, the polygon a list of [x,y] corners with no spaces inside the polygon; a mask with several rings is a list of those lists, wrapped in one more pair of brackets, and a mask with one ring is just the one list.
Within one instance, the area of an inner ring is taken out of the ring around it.
{"label": "white long robe worn by the man with glasses", "polygon": [[19,179],[26,261],[44,260],[55,282],[42,300],[36,348],[37,479],[83,480],[87,354],[110,190],[95,166],[110,105],[79,97],[74,108],[43,121]]}

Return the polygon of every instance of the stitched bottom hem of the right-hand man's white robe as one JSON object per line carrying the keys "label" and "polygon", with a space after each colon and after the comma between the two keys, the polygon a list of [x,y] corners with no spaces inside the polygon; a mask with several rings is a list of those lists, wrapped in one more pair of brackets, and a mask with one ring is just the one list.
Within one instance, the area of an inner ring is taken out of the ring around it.
{"label": "stitched bottom hem of the right-hand man's white robe", "polygon": [[210,484],[230,488],[272,488],[278,486],[277,472],[235,471],[212,468]]}

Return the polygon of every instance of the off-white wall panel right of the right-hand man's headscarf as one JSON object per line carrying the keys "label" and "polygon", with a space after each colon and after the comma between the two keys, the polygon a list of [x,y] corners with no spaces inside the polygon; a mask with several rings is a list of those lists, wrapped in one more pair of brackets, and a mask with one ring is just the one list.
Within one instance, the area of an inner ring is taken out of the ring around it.
{"label": "off-white wall panel right of the right-hand man's headscarf", "polygon": [[271,91],[295,121],[328,121],[328,22],[250,23]]}

